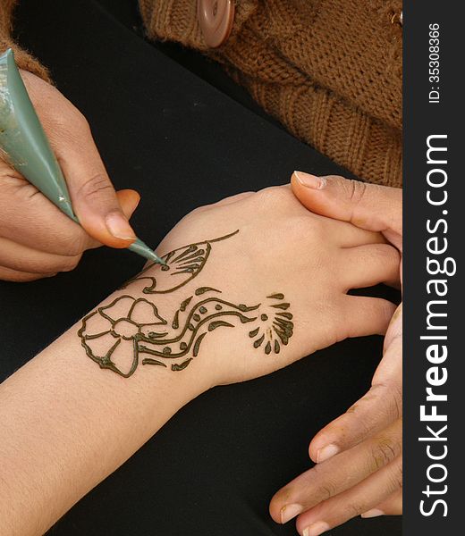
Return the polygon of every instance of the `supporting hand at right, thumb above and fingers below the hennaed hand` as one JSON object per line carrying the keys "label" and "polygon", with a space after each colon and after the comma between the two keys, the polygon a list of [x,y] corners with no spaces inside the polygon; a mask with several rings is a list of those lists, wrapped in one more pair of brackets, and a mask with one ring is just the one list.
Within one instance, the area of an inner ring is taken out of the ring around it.
{"label": "supporting hand at right, thumb above and fingers below the hennaed hand", "polygon": [[[298,172],[292,190],[312,212],[380,231],[402,254],[401,189]],[[371,389],[317,433],[309,455],[317,465],[271,501],[278,523],[299,515],[300,534],[317,536],[356,515],[402,514],[402,304]]]}

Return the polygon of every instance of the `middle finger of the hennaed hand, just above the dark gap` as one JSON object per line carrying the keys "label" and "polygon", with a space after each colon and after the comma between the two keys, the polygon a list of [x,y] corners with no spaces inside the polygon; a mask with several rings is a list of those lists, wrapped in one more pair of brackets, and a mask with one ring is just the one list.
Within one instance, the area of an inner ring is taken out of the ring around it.
{"label": "middle finger of the hennaed hand, just above the dark gap", "polygon": [[388,244],[371,244],[341,250],[342,273],[339,281],[347,291],[372,287],[378,283],[399,286],[401,257]]}

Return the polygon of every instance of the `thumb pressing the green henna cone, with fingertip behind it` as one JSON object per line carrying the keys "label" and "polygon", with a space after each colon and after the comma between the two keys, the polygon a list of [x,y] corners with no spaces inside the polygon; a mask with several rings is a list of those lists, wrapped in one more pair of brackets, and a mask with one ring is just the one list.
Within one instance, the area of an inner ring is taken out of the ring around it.
{"label": "thumb pressing the green henna cone, with fingertip behind it", "polygon": [[89,127],[80,127],[73,139],[55,147],[72,208],[92,239],[110,247],[128,247],[136,239],[128,217],[139,202],[139,194],[123,190],[116,196]]}

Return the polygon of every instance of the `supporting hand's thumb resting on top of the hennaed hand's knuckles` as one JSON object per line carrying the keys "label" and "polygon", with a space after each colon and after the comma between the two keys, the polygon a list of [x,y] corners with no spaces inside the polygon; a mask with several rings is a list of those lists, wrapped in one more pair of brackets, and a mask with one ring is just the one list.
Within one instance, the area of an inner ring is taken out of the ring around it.
{"label": "supporting hand's thumb resting on top of the hennaed hand's knuckles", "polygon": [[313,213],[383,232],[402,251],[402,188],[304,172],[293,172],[291,185],[300,203]]}

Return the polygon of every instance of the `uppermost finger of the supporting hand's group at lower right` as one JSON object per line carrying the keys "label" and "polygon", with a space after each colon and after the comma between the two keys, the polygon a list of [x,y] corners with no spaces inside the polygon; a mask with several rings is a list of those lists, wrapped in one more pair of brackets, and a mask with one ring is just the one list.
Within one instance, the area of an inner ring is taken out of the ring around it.
{"label": "uppermost finger of the supporting hand's group at lower right", "polygon": [[[368,298],[371,299],[371,298]],[[321,463],[384,430],[402,416],[402,348],[391,345],[368,393],[311,440],[309,454]]]}

